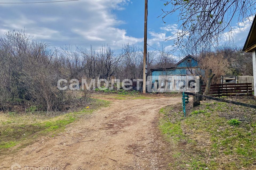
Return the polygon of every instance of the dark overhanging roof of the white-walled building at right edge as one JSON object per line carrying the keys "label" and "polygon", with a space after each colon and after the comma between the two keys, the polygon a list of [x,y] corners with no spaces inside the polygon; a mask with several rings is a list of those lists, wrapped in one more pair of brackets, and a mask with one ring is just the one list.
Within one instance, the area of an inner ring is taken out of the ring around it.
{"label": "dark overhanging roof of the white-walled building at right edge", "polygon": [[[256,15],[255,15],[256,16]],[[251,24],[251,29],[243,46],[243,51],[252,52],[256,49],[256,17],[254,16],[253,23]]]}

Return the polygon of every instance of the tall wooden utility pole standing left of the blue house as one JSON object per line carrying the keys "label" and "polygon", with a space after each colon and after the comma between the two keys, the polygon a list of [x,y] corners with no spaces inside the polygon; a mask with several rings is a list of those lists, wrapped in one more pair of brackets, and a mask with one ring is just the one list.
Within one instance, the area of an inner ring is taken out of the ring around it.
{"label": "tall wooden utility pole standing left of the blue house", "polygon": [[146,93],[146,61],[147,61],[147,0],[145,0],[144,21],[144,55],[143,55],[143,93]]}

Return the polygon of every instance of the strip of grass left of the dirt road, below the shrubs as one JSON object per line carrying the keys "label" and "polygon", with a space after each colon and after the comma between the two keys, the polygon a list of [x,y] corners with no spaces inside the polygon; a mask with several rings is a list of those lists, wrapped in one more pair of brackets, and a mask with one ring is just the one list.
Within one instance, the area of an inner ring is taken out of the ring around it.
{"label": "strip of grass left of the dirt road, below the shrubs", "polygon": [[55,116],[42,112],[29,112],[20,115],[0,114],[0,149],[13,147],[17,144],[25,145],[40,135],[56,134],[83,115],[91,114],[96,109],[107,107],[109,104],[110,102],[106,100],[92,100],[89,108],[77,112],[60,113]]}

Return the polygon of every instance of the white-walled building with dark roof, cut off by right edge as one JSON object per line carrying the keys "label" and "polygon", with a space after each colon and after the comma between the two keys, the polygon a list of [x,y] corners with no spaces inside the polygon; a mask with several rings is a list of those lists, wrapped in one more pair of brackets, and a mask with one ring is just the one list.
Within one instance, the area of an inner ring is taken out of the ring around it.
{"label": "white-walled building with dark roof, cut off by right edge", "polygon": [[253,53],[253,79],[254,79],[254,96],[256,96],[256,16],[243,46],[243,51]]}

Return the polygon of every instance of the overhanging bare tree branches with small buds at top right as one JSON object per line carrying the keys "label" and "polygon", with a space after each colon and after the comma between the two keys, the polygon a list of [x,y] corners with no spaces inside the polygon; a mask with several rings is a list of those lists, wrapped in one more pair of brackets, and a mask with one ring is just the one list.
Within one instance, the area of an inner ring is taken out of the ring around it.
{"label": "overhanging bare tree branches with small buds at top right", "polygon": [[[168,15],[178,14],[178,31],[167,40],[175,41],[175,49],[186,47],[190,40],[194,45],[216,46],[224,32],[232,38],[231,21],[243,23],[255,15],[254,0],[171,0],[165,1],[160,15],[165,22]],[[159,17],[160,17],[159,16]],[[244,24],[238,24],[242,29]]]}

